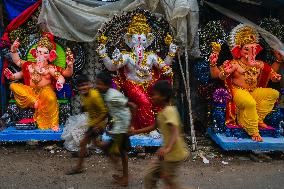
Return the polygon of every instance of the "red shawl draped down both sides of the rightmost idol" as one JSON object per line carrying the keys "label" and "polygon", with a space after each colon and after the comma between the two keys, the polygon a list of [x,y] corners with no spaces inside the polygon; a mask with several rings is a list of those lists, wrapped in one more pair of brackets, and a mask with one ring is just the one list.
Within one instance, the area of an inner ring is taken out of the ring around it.
{"label": "red shawl draped down both sides of the rightmost idol", "polygon": [[[262,88],[267,87],[268,81],[270,80],[270,72],[271,72],[271,67],[264,62],[264,66],[261,70],[257,84],[258,87]],[[225,80],[225,85],[229,90],[229,92],[232,94],[232,99],[226,104],[226,124],[236,124],[237,107],[233,101],[233,92],[232,92],[233,83],[231,77],[228,77]]]}

